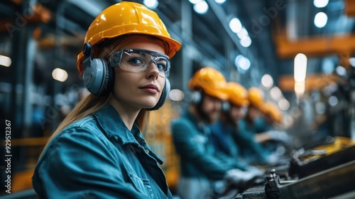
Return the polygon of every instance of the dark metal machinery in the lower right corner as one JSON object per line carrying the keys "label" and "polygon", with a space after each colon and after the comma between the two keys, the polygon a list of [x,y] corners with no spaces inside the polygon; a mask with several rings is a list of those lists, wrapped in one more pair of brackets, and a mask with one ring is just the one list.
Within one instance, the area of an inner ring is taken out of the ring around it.
{"label": "dark metal machinery in the lower right corner", "polygon": [[239,199],[355,198],[355,144],[327,138],[312,149],[293,151],[290,163],[275,166]]}

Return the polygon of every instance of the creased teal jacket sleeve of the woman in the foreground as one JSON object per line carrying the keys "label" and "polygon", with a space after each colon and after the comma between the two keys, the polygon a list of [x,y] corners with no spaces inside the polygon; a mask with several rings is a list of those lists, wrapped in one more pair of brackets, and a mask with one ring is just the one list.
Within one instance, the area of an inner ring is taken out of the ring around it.
{"label": "creased teal jacket sleeve of the woman in the foreground", "polygon": [[66,131],[43,156],[38,169],[42,185],[33,185],[38,198],[147,198],[127,182],[104,134]]}

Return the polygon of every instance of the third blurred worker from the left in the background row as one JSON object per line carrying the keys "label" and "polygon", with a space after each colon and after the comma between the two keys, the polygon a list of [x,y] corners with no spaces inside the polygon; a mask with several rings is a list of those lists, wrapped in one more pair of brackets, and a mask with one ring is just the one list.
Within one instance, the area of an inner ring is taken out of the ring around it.
{"label": "third blurred worker from the left in the background row", "polygon": [[[263,91],[257,87],[251,87],[248,90],[249,107],[244,119],[239,122],[239,137],[236,139],[240,148],[241,154],[248,163],[267,164],[274,162],[271,153],[266,151],[263,146],[256,141],[256,134],[267,131],[270,127],[265,125],[261,110],[264,106]],[[249,142],[243,140],[249,140]]]}

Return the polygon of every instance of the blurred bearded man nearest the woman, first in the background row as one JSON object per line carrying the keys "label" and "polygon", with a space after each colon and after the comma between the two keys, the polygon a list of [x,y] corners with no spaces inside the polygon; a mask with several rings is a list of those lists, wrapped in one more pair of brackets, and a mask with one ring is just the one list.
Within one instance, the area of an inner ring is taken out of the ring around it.
{"label": "blurred bearded man nearest the woman, first in the background row", "polygon": [[197,70],[188,84],[193,102],[172,122],[173,143],[180,156],[180,198],[207,198],[217,181],[227,179],[236,185],[250,180],[246,173],[214,156],[209,140],[209,124],[219,119],[222,100],[227,99],[226,79],[214,68]]}

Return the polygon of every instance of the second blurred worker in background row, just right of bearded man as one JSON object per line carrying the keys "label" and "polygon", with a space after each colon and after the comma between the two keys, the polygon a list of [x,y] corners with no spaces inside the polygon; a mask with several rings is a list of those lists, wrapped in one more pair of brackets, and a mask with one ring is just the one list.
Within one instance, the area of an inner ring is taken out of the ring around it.
{"label": "second blurred worker in background row, just right of bearded man", "polygon": [[[249,105],[248,91],[245,87],[236,82],[228,82],[226,86],[228,99],[222,105],[222,114],[218,122],[212,124],[212,142],[216,154],[226,161],[234,161],[237,168],[243,171],[253,172],[261,175],[263,171],[246,163],[239,154],[239,145],[236,140],[244,143],[244,146],[251,145],[254,139],[239,134],[239,121],[244,118],[247,106]],[[219,152],[219,153],[218,153]],[[257,152],[257,151],[256,151]]]}

